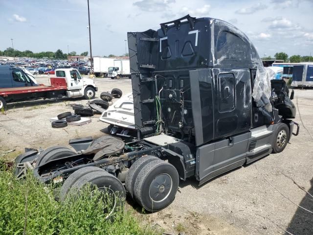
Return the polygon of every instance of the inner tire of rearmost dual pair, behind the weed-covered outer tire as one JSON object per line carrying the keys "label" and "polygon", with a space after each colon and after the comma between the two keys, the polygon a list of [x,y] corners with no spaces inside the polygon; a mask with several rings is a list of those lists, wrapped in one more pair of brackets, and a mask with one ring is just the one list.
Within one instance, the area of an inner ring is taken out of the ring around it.
{"label": "inner tire of rearmost dual pair, behind the weed-covered outer tire", "polygon": [[67,193],[69,192],[70,188],[79,180],[79,178],[90,172],[97,171],[104,171],[104,169],[96,166],[87,166],[74,171],[74,173],[72,173],[62,185],[60,191],[60,201],[64,201],[66,199]]}

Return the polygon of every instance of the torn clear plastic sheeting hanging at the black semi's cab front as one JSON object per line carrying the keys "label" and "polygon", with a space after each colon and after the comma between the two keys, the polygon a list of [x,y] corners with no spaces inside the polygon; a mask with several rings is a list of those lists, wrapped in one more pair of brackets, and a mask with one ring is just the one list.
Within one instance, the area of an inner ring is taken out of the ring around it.
{"label": "torn clear plastic sheeting hanging at the black semi's cab front", "polygon": [[264,107],[268,112],[272,111],[272,105],[269,101],[271,95],[271,79],[275,79],[274,71],[264,68],[263,66],[257,67],[252,97],[257,107]]}

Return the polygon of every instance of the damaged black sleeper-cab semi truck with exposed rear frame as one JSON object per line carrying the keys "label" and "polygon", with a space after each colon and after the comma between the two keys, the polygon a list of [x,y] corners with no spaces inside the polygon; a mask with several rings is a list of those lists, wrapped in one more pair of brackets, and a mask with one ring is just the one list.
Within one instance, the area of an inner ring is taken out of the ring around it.
{"label": "damaged black sleeper-cab semi truck with exposed rear frame", "polygon": [[129,32],[128,44],[137,140],[81,138],[69,141],[75,151],[26,152],[16,160],[20,177],[34,167],[39,180],[60,185],[61,200],[91,183],[159,211],[174,200],[179,179],[202,185],[283,151],[298,134],[293,93],[283,80],[271,84],[233,25],[187,15],[157,31]]}

